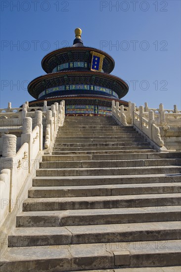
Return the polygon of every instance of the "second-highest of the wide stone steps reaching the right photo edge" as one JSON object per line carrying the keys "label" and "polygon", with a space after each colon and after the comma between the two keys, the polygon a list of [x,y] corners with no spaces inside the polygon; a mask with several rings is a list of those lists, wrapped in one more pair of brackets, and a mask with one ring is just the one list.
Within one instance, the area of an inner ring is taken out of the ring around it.
{"label": "second-highest of the wide stone steps reaching the right photo edge", "polygon": [[105,160],[105,161],[49,161],[40,162],[40,169],[51,168],[120,168],[149,166],[181,165],[181,159],[139,159],[139,160]]}

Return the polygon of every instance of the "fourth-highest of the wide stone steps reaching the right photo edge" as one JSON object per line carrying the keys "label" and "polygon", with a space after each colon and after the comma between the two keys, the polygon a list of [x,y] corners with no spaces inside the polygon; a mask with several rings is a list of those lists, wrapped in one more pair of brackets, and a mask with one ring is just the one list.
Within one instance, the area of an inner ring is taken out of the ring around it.
{"label": "fourth-highest of the wide stone steps reaching the right photo edge", "polygon": [[165,183],[180,182],[181,174],[157,175],[125,175],[122,176],[96,176],[96,177],[35,177],[33,186],[78,186],[78,185],[106,185],[106,184],[132,184],[132,183]]}

